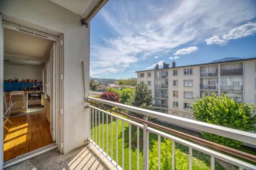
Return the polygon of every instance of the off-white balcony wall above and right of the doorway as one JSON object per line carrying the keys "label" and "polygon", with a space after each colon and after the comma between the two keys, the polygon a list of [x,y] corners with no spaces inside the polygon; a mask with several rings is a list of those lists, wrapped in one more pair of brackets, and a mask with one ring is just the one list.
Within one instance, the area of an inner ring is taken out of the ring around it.
{"label": "off-white balcony wall above and right of the doorway", "polygon": [[[64,152],[85,143],[89,137],[89,109],[84,109],[82,61],[86,59],[86,37],[80,16],[47,0],[0,1],[5,20],[27,27],[64,35]],[[89,64],[87,65],[89,70]],[[89,75],[89,72],[88,72]],[[88,76],[89,79],[89,76]],[[88,87],[89,88],[89,87]],[[88,90],[89,91],[89,90]]]}

